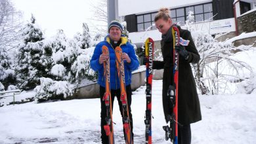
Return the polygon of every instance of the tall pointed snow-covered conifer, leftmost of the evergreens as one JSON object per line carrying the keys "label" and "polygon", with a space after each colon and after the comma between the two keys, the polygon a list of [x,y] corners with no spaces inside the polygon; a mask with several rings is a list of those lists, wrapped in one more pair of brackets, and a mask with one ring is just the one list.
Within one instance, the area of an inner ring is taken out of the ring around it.
{"label": "tall pointed snow-covered conifer, leftmost of the evergreens", "polygon": [[22,29],[22,37],[18,45],[16,73],[18,87],[28,90],[39,84],[39,77],[45,71],[41,63],[43,32],[35,24],[33,15],[31,22]]}

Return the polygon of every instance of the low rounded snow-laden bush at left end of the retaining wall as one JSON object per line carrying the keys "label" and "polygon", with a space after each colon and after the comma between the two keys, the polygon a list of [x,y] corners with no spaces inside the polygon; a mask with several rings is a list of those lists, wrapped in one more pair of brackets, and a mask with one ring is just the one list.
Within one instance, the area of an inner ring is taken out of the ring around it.
{"label": "low rounded snow-laden bush at left end of the retaining wall", "polygon": [[41,85],[36,86],[34,89],[37,102],[49,99],[64,99],[72,96],[74,92],[73,85],[67,81],[53,81],[52,79],[41,77],[40,82]]}

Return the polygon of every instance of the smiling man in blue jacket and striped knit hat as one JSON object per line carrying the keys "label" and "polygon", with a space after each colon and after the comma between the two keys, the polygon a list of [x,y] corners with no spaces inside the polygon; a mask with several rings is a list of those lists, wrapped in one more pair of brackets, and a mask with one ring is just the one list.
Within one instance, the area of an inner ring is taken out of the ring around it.
{"label": "smiling man in blue jacket and striped knit hat", "polygon": [[[122,104],[120,101],[120,84],[117,74],[116,68],[116,54],[115,48],[116,46],[120,46],[123,50],[123,55],[121,59],[123,59],[124,67],[125,67],[125,84],[126,84],[126,92],[127,92],[127,103],[129,107],[129,119],[131,124],[131,133],[133,137],[133,117],[131,115],[131,71],[134,71],[139,67],[139,60],[135,54],[135,49],[131,43],[129,43],[127,37],[123,37],[121,35],[123,31],[123,26],[115,21],[112,21],[108,26],[108,33],[104,39],[104,41],[98,43],[95,47],[95,51],[93,53],[93,57],[91,58],[91,68],[98,72],[98,84],[100,84],[100,103],[101,103],[101,139],[102,143],[108,143],[108,136],[106,136],[106,132],[104,130],[104,125],[106,124],[106,106],[102,98],[105,92],[105,78],[104,78],[104,67],[103,63],[110,58],[110,88],[111,88],[111,96],[112,103],[114,103],[114,97],[117,97],[119,110],[122,115]],[[102,54],[102,46],[105,45],[108,47],[109,55]],[[113,105],[112,105],[113,108]],[[123,115],[122,115],[123,117]]]}

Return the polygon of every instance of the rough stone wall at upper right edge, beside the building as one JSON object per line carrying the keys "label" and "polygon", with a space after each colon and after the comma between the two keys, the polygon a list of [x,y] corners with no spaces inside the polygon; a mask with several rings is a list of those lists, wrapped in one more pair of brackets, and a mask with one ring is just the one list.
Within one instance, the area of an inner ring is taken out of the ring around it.
{"label": "rough stone wall at upper right edge, beside the building", "polygon": [[238,34],[256,31],[256,10],[238,17]]}

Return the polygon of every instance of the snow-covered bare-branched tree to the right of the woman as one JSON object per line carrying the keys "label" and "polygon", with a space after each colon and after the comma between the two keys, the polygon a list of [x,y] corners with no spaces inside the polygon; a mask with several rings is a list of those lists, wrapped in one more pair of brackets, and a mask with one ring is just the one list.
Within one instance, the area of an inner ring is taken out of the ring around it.
{"label": "snow-covered bare-branched tree to the right of the woman", "polygon": [[[195,29],[193,12],[189,12],[186,29],[192,32],[192,37],[198,52],[200,62],[193,64],[196,84],[202,94],[232,93],[230,83],[244,81],[253,77],[250,65],[234,58],[232,45],[218,42],[207,32]],[[244,48],[246,50],[246,47]],[[245,76],[244,71],[249,71]]]}

